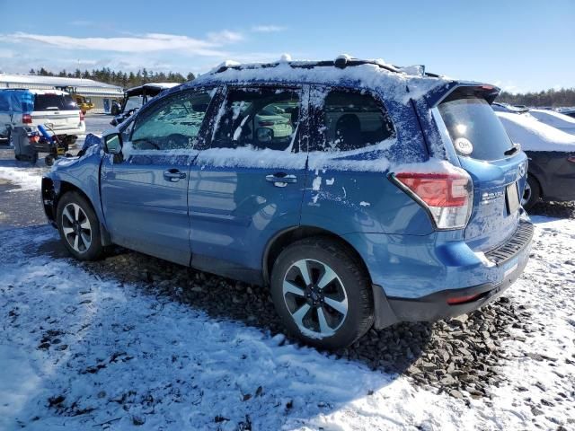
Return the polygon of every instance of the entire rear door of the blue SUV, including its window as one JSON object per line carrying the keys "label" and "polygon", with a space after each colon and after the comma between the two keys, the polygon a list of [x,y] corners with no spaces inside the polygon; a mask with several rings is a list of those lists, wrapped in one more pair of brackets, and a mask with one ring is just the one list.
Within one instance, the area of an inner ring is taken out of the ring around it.
{"label": "entire rear door of the blue SUV, including its window", "polygon": [[228,88],[211,148],[190,169],[192,266],[208,258],[259,271],[270,238],[299,224],[306,92],[284,90]]}

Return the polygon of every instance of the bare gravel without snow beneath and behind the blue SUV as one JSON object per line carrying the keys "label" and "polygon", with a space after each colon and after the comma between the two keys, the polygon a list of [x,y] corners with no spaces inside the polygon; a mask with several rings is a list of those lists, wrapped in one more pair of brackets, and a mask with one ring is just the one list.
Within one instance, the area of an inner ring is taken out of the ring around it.
{"label": "bare gravel without snow beneath and behind the blue SUV", "polygon": [[[40,247],[40,252],[46,251],[58,258],[66,256],[56,239]],[[120,247],[105,259],[84,262],[82,267],[95,276],[138,286],[146,294],[187,304],[217,320],[241,321],[272,337],[284,333],[265,286],[184,268]],[[406,375],[432,391],[458,397],[464,390],[481,398],[489,396],[489,387],[500,382],[495,367],[505,356],[501,339],[509,338],[509,326],[519,312],[523,311],[516,311],[502,298],[449,321],[403,322],[384,330],[372,329],[352,346],[323,354],[385,374]]]}

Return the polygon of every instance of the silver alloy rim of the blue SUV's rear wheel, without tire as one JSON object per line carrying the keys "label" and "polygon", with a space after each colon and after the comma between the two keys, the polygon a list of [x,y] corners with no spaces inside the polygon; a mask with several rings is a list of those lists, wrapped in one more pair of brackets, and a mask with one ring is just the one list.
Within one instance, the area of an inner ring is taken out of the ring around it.
{"label": "silver alloy rim of the blue SUV's rear wheel, without tire", "polygon": [[310,338],[332,336],[348,315],[348,295],[341,278],[319,260],[297,260],[288,268],[283,297],[297,327]]}

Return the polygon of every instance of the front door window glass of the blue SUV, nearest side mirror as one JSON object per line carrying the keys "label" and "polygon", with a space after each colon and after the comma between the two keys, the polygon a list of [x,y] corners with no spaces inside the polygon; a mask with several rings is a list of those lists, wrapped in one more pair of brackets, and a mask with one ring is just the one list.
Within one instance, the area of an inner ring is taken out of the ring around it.
{"label": "front door window glass of the blue SUV, nearest side mirror", "polygon": [[142,111],[134,122],[132,147],[136,150],[194,148],[210,101],[208,92],[182,92]]}

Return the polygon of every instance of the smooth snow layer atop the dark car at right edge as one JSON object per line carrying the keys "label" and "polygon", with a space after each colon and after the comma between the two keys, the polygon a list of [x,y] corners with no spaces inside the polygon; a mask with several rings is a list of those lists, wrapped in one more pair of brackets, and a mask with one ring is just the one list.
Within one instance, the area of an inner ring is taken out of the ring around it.
{"label": "smooth snow layer atop the dark car at right edge", "polygon": [[575,152],[575,136],[542,123],[529,114],[495,112],[511,140],[526,151]]}

